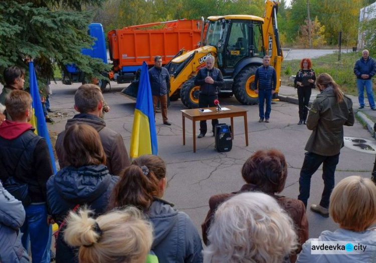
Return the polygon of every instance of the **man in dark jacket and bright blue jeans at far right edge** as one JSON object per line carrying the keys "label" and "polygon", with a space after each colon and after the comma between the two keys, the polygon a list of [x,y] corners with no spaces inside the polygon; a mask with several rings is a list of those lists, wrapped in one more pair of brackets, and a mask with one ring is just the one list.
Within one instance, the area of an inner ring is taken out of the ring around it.
{"label": "man in dark jacket and bright blue jeans at far right edge", "polygon": [[369,57],[368,50],[363,50],[361,58],[356,61],[354,73],[356,75],[356,85],[358,87],[359,109],[364,108],[364,87],[367,93],[369,107],[376,111],[374,105],[371,78],[376,74],[376,61]]}

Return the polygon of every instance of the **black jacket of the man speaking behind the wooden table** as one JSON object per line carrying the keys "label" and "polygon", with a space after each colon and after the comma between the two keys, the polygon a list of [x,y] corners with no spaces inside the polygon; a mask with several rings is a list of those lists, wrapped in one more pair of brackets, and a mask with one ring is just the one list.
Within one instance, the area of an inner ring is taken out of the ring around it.
{"label": "black jacket of the man speaking behind the wooden table", "polygon": [[217,87],[220,88],[225,85],[222,72],[219,69],[213,67],[213,69],[209,71],[209,76],[212,77],[212,79],[214,80],[214,84],[209,84],[205,82],[205,78],[208,77],[207,68],[202,68],[197,73],[196,78],[195,78],[195,85],[200,85],[200,94],[204,94],[204,95],[217,94]]}

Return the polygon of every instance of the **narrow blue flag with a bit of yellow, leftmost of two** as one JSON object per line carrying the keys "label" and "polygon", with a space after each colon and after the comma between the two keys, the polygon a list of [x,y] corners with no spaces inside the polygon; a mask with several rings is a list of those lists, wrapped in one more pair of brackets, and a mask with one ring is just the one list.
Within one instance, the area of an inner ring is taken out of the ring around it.
{"label": "narrow blue flag with a bit of yellow, leftmost of two", "polygon": [[35,133],[46,139],[48,149],[50,151],[52,167],[54,173],[56,173],[55,157],[52,150],[52,144],[50,140],[50,134],[48,133],[45,115],[43,114],[41,95],[39,94],[37,76],[35,74],[34,63],[29,62],[29,74],[30,74],[30,95],[32,96],[33,103],[33,117],[31,125],[35,127]]}

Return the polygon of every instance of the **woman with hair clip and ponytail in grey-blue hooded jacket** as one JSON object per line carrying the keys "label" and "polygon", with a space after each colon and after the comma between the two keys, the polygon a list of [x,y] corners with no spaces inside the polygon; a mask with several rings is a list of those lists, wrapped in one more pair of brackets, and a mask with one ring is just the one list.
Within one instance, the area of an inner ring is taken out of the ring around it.
{"label": "woman with hair clip and ponytail in grey-blue hooded jacket", "polygon": [[151,249],[159,262],[200,263],[200,235],[188,215],[161,199],[166,184],[164,161],[156,155],[142,155],[122,172],[109,208],[134,205],[144,212],[154,227]]}

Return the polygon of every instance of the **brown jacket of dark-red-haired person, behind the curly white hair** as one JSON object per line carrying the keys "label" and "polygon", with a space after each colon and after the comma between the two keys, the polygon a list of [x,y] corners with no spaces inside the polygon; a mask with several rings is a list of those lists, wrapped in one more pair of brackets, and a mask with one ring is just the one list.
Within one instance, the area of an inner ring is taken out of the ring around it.
{"label": "brown jacket of dark-red-haired person, behind the curly white hair", "polygon": [[[210,224],[214,218],[214,214],[220,204],[222,204],[227,199],[233,197],[234,195],[247,191],[259,191],[257,186],[254,184],[245,184],[242,186],[240,191],[224,194],[216,194],[210,197],[209,199],[209,212],[206,216],[204,223],[201,227],[203,230],[203,240],[206,245],[208,242],[208,231]],[[299,238],[298,249],[296,253],[290,255],[291,262],[296,261],[296,254],[299,253],[302,249],[302,244],[308,239],[308,219],[305,214],[305,207],[302,201],[290,197],[275,195],[274,193],[267,193],[274,198],[276,198],[278,204],[286,210],[286,212],[291,216],[295,224],[296,233]]]}

